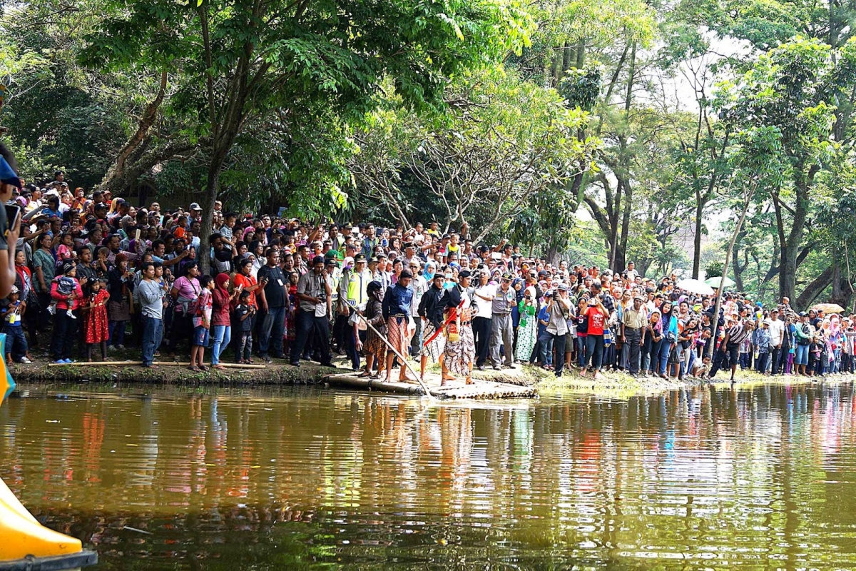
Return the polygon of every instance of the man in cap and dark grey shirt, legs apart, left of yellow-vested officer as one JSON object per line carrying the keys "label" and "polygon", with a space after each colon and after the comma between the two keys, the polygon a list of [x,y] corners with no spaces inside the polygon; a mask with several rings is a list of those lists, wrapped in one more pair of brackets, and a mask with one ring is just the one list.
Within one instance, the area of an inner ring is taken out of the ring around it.
{"label": "man in cap and dark grey shirt, legs apart, left of yellow-vested officer", "polygon": [[324,258],[316,256],[312,259],[312,270],[300,276],[297,282],[297,298],[300,300],[297,336],[289,360],[293,366],[300,366],[300,356],[311,335],[317,345],[321,365],[333,366],[330,362],[330,322],[327,319],[330,288],[325,274]]}

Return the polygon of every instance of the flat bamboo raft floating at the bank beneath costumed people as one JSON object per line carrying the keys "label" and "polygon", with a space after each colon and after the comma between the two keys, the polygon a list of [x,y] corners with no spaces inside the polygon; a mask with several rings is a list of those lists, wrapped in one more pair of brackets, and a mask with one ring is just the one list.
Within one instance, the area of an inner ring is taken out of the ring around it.
{"label": "flat bamboo raft floating at the bank beneath costumed people", "polygon": [[[324,377],[324,381],[330,387],[341,389],[377,390],[396,395],[425,396],[425,390],[415,382],[389,381],[387,383],[383,379],[357,377],[355,374],[328,375]],[[430,391],[430,396],[437,399],[515,399],[538,396],[538,390],[534,387],[496,383],[479,378],[473,378],[473,384],[464,384],[461,379],[447,381],[445,385],[440,386],[439,376],[428,375],[425,378],[425,385]]]}

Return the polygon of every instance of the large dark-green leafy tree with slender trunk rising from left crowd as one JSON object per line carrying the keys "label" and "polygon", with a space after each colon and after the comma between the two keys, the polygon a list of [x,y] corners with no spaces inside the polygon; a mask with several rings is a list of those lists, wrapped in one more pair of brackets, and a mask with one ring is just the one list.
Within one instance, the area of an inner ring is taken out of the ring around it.
{"label": "large dark-green leafy tree with slender trunk rising from left crowd", "polygon": [[[173,75],[173,106],[207,157],[202,235],[219,177],[255,120],[325,104],[359,117],[384,78],[415,108],[439,107],[449,77],[520,49],[532,23],[516,0],[330,3],[312,0],[116,0],[86,38],[98,69]],[[200,251],[207,270],[208,250]]]}

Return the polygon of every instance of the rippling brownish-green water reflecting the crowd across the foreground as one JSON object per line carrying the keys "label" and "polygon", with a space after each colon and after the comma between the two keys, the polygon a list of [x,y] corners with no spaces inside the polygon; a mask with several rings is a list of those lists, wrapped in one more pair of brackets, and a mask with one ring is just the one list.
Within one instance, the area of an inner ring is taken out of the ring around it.
{"label": "rippling brownish-green water reflecting the crowd across the foreground", "polygon": [[0,407],[0,477],[101,569],[856,568],[850,384],[144,390]]}

